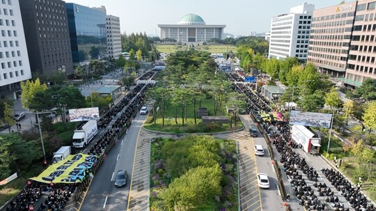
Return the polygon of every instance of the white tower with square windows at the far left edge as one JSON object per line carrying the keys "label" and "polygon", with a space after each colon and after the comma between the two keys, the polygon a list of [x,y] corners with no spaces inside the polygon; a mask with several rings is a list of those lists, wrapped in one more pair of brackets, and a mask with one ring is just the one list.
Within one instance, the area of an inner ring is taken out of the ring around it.
{"label": "white tower with square windows at the far left edge", "polygon": [[0,97],[16,98],[19,82],[31,79],[24,27],[18,0],[1,0],[0,8]]}

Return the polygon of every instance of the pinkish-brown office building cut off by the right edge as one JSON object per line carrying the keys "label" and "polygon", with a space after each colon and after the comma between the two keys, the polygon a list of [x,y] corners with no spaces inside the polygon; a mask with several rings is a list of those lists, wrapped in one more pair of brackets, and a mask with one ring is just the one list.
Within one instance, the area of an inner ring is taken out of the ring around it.
{"label": "pinkish-brown office building cut off by the right edge", "polygon": [[376,1],[359,0],[355,10],[346,75],[347,86],[361,86],[366,78],[376,79]]}

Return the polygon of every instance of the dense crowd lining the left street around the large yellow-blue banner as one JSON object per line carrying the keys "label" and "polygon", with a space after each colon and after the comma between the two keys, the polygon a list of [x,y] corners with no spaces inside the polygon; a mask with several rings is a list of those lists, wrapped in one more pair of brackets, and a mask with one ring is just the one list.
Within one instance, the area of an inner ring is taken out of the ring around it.
{"label": "dense crowd lining the left street around the large yellow-blue banner", "polygon": [[[154,72],[147,72],[141,76],[143,80],[150,79],[154,75]],[[141,79],[140,77],[140,79]],[[97,125],[100,128],[105,128],[113,117],[116,116],[124,107],[127,107],[123,114],[129,112],[133,114],[135,109],[139,107],[145,96],[146,89],[152,86],[152,84],[138,84],[135,85],[132,91],[128,93],[123,100],[112,107],[107,114],[102,116],[97,121]],[[123,116],[123,115],[122,115]],[[120,116],[119,119],[122,119]],[[124,117],[123,117],[124,118]],[[119,120],[118,119],[118,120]],[[117,121],[118,121],[117,120]],[[116,121],[116,122],[117,122]],[[120,123],[120,122],[119,122]],[[120,127],[123,125],[118,124],[116,127],[112,127],[98,139],[97,142],[88,150],[89,155],[101,155],[103,150],[107,148],[109,142],[116,139],[120,131]],[[89,175],[86,175],[88,178]],[[63,184],[63,183],[50,183],[49,185],[42,182],[35,182],[27,180],[27,186],[21,194],[15,197],[15,200],[11,201],[6,206],[6,211],[31,211],[31,210],[51,210],[60,211],[65,207],[65,203],[70,200],[75,193],[77,187],[81,183]],[[42,197],[45,196],[45,197]]]}

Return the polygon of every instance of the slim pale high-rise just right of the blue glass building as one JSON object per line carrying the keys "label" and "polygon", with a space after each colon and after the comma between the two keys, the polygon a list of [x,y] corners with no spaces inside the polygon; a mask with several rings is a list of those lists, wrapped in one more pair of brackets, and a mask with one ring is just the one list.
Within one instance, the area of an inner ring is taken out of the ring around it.
{"label": "slim pale high-rise just right of the blue glass building", "polygon": [[118,58],[121,54],[120,18],[106,15],[107,54],[110,58]]}

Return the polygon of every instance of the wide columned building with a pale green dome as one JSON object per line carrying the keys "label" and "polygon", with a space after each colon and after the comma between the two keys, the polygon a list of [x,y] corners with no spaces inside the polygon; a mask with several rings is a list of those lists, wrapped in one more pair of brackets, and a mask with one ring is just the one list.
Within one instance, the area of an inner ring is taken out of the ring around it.
{"label": "wide columned building with a pale green dome", "polygon": [[203,18],[188,14],[178,24],[158,24],[161,38],[171,38],[176,42],[196,44],[210,42],[213,38],[223,39],[226,25],[206,25]]}

